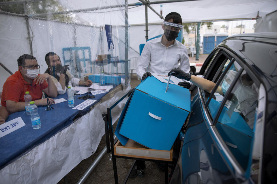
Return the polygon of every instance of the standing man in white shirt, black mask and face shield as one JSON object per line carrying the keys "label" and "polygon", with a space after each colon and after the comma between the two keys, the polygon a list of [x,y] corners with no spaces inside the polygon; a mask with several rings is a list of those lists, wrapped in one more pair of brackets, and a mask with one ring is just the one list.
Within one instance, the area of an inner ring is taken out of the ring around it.
{"label": "standing man in white shirt, black mask and face shield", "polygon": [[182,18],[176,12],[166,15],[162,23],[164,34],[162,37],[149,40],[145,43],[138,60],[136,74],[144,80],[153,73],[168,73],[172,68],[190,71],[188,52],[186,47],[176,40],[183,28]]}

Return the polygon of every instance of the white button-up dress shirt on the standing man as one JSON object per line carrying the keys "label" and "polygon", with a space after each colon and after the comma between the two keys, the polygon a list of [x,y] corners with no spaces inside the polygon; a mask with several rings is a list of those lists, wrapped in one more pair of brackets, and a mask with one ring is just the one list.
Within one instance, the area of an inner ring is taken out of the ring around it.
{"label": "white button-up dress shirt on the standing man", "polygon": [[173,45],[166,47],[161,40],[162,37],[159,37],[145,43],[136,68],[136,74],[139,78],[142,78],[145,72],[168,73],[171,69],[178,68],[179,62],[181,70],[190,71],[190,62],[185,45],[175,39]]}

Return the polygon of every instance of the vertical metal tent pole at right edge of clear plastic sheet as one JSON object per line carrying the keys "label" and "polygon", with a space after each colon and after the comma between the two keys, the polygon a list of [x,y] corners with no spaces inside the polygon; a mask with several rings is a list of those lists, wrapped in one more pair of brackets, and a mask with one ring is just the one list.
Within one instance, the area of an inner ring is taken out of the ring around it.
{"label": "vertical metal tent pole at right edge of clear plastic sheet", "polygon": [[128,0],[125,0],[125,86],[128,84]]}

